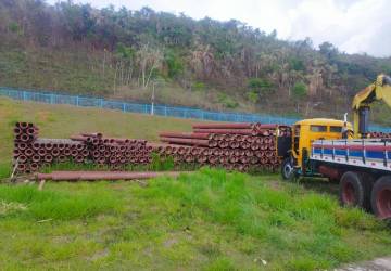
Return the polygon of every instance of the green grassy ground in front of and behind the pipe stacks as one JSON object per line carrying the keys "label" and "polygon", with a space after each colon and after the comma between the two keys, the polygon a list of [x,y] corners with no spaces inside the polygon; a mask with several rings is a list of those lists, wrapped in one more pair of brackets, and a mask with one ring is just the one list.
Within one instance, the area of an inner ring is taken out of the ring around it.
{"label": "green grassy ground in front of and behind the pipe stacks", "polygon": [[[0,99],[1,173],[12,126],[157,139],[169,119]],[[316,270],[391,254],[386,223],[341,208],[336,185],[203,168],[177,180],[0,185],[1,270]]]}

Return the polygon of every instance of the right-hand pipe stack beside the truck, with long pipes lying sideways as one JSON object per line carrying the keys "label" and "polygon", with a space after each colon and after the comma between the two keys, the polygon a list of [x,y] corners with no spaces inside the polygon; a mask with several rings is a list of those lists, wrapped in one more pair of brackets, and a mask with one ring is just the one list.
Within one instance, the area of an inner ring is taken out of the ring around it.
{"label": "right-hand pipe stack beside the truck, with long pipes lying sideways", "polygon": [[193,132],[162,132],[169,144],[162,154],[178,163],[209,164],[227,169],[276,169],[280,165],[277,140],[291,137],[291,128],[261,124],[197,124]]}

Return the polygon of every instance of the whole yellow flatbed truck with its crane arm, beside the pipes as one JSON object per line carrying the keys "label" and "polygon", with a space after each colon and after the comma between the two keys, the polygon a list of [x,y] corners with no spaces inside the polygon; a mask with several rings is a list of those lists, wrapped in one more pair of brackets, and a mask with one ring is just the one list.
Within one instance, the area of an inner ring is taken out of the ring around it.
{"label": "whole yellow flatbed truck with its crane arm, beside the pipes", "polygon": [[380,219],[390,219],[391,139],[374,138],[368,131],[370,105],[378,100],[391,106],[388,76],[378,76],[376,82],[355,95],[354,126],[346,117],[295,122],[290,144],[277,146],[278,154],[285,157],[282,178],[326,177],[339,182],[342,205],[371,210]]}

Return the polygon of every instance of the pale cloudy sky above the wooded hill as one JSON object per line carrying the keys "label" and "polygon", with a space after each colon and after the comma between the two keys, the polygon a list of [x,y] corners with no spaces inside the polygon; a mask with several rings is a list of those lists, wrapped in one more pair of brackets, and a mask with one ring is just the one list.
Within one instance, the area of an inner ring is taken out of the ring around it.
{"label": "pale cloudy sky above the wooded hill", "polygon": [[[48,0],[54,3],[56,0]],[[330,41],[348,53],[391,55],[389,0],[74,0],[96,8],[184,12],[193,18],[236,18],[282,39],[310,37],[317,47]]]}

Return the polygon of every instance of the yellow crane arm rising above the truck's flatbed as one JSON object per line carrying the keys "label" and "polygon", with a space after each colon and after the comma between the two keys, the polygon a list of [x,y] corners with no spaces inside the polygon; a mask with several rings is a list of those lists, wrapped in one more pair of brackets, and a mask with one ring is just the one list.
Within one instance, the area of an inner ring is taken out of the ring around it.
{"label": "yellow crane arm rising above the truck's flatbed", "polygon": [[380,100],[391,107],[391,78],[386,75],[379,75],[374,83],[360,91],[353,99],[355,138],[367,137],[370,105]]}

